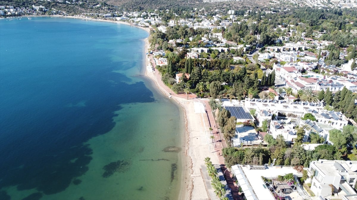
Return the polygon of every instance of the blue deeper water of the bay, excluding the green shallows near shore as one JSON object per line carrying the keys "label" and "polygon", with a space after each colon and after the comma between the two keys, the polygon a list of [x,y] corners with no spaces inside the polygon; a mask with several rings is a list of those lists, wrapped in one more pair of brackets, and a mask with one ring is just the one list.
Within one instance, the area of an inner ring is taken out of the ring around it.
{"label": "blue deeper water of the bay, excluding the green shallows near shore", "polygon": [[0,199],[21,191],[40,199],[74,187],[95,159],[86,142],[115,127],[115,111],[155,102],[145,81],[130,77],[142,71],[147,32],[33,18],[0,20]]}

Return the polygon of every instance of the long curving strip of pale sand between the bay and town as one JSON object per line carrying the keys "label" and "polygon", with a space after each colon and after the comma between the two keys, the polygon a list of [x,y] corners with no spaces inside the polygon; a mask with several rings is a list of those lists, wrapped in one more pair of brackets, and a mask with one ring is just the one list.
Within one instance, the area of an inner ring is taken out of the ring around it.
{"label": "long curving strip of pale sand between the bay and town", "polygon": [[[65,18],[81,19],[81,20],[91,20],[91,21],[101,21],[101,22],[112,22],[120,23],[124,25],[134,26],[141,28],[142,30],[147,31],[150,34],[150,28],[140,27],[132,25],[131,23],[124,21],[111,21],[111,20],[102,20],[102,19],[92,19],[86,17],[77,17],[77,16],[60,16]],[[183,135],[182,141],[182,175],[181,175],[181,185],[180,193],[178,199],[216,199],[217,197],[210,197],[205,186],[205,180],[203,179],[201,165],[205,165],[204,159],[210,157],[213,164],[219,164],[220,160],[218,158],[218,152],[220,148],[208,150],[207,143],[202,142],[202,133],[200,129],[205,126],[206,129],[210,127],[209,119],[207,116],[202,114],[195,113],[195,98],[196,95],[190,94],[187,99],[186,94],[175,94],[169,87],[167,87],[161,80],[161,75],[155,69],[155,71],[148,70],[148,65],[152,65],[152,59],[149,59],[146,55],[146,52],[149,52],[150,43],[149,38],[144,39],[144,58],[145,62],[143,63],[145,76],[153,81],[164,96],[171,96],[171,99],[182,107],[184,123],[185,123],[185,133]],[[149,64],[150,62],[150,64]],[[155,64],[154,64],[155,65]],[[205,103],[206,104],[206,103]],[[207,106],[207,104],[206,104]],[[215,122],[213,122],[215,123]],[[213,124],[212,124],[213,126]],[[217,130],[215,128],[215,130]],[[202,144],[203,143],[203,144]],[[205,173],[205,172],[203,172]]]}

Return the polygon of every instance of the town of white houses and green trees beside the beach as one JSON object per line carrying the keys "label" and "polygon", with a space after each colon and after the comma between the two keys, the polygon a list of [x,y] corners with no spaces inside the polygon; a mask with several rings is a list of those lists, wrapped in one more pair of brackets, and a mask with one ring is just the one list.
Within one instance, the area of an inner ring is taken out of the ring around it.
{"label": "town of white houses and green trees beside the beach", "polygon": [[207,159],[200,168],[209,199],[356,199],[357,0],[267,4],[113,10],[98,3],[71,14],[0,5],[0,16],[61,15],[147,28],[148,73],[160,76],[169,98],[187,95],[186,103],[195,96],[203,123],[212,115],[210,131],[194,130],[224,162]]}

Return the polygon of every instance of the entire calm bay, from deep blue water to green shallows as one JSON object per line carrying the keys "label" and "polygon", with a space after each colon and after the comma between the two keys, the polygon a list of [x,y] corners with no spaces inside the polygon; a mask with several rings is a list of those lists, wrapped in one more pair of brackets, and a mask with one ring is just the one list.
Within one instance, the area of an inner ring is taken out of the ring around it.
{"label": "entire calm bay, from deep blue water to green shallows", "polygon": [[1,200],[178,198],[183,111],[144,75],[148,36],[0,19]]}

